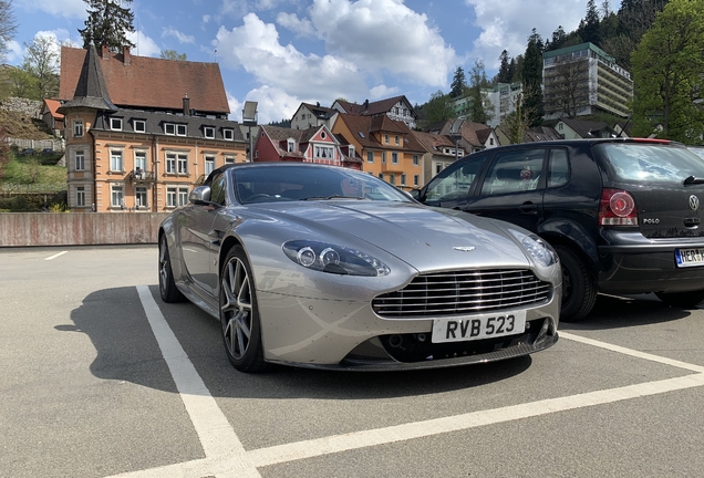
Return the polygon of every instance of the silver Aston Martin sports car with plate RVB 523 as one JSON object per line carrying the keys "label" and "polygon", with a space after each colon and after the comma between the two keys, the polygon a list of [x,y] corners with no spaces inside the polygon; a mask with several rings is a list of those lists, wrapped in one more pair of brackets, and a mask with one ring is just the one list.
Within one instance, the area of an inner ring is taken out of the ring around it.
{"label": "silver Aston Martin sports car with plate RVB 523", "polygon": [[312,164],[224,166],[189,199],[159,228],[161,295],[218,319],[239,371],[431,368],[558,340],[557,254],[517,226]]}

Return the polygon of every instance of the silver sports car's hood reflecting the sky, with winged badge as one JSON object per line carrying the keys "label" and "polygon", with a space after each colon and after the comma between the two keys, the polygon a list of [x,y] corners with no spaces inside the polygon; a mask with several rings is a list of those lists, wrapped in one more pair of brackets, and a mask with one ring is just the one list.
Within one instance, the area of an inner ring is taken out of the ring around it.
{"label": "silver sports car's hood reflecting the sky, with winged badge", "polygon": [[354,236],[421,271],[530,266],[507,230],[520,228],[466,212],[412,202],[351,200],[258,206],[312,231]]}

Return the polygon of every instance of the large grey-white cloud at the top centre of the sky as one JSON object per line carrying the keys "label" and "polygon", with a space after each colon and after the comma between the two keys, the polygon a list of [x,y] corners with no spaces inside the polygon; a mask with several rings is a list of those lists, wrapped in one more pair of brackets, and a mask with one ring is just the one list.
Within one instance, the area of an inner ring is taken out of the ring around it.
{"label": "large grey-white cloud at the top centre of the sky", "polygon": [[444,86],[455,67],[453,48],[402,0],[313,0],[310,14],[327,50],[362,70]]}

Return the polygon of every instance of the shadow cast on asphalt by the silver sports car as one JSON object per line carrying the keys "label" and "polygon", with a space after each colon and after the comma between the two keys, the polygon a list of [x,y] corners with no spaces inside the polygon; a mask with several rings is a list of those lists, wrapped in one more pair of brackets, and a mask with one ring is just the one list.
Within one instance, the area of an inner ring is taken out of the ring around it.
{"label": "shadow cast on asphalt by the silver sports car", "polygon": [[[162,302],[156,287],[151,291],[215,397],[372,399],[428,395],[509,380],[532,363],[530,356],[524,356],[448,368],[365,373],[278,365],[260,374],[245,374],[228,362],[216,320],[188,302]],[[90,366],[94,376],[177,393],[135,288],[90,293],[71,312],[71,320],[72,324],[55,329],[90,337],[96,351]]]}

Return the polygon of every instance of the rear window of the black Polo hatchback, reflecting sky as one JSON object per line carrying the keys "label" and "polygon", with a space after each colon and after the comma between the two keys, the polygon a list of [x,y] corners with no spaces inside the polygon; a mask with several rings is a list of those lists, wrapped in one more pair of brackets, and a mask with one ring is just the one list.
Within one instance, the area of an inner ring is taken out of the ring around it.
{"label": "rear window of the black Polo hatchback, reflecting sky", "polygon": [[704,178],[704,162],[683,147],[652,143],[597,145],[617,179],[629,183],[682,183]]}

